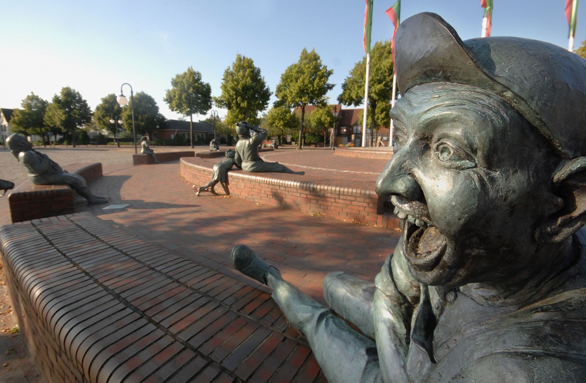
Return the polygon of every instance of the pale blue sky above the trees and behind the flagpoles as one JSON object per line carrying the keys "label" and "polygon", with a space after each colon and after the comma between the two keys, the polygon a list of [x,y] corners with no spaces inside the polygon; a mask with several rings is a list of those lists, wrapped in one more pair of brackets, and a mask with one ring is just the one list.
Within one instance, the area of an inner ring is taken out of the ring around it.
{"label": "pale blue sky above the trees and behind the flagpoles", "polygon": [[[374,0],[373,43],[389,40],[384,11]],[[568,45],[565,0],[494,0],[492,36],[520,36]],[[163,101],[171,78],[189,66],[220,95],[224,70],[240,53],[254,60],[274,92],[301,50],[315,49],[334,73],[336,102],[350,69],[364,56],[364,0],[143,0],[2,2],[0,107],[18,108],[30,92],[51,100],[62,87],[79,91],[93,109],[122,83]],[[462,39],[479,37],[480,0],[403,0],[401,19],[436,12]],[[586,4],[578,7],[575,49],[586,40]],[[128,87],[124,93],[130,94]],[[275,100],[274,95],[271,98]],[[220,116],[225,111],[219,110]],[[194,116],[194,119],[203,116]]]}

